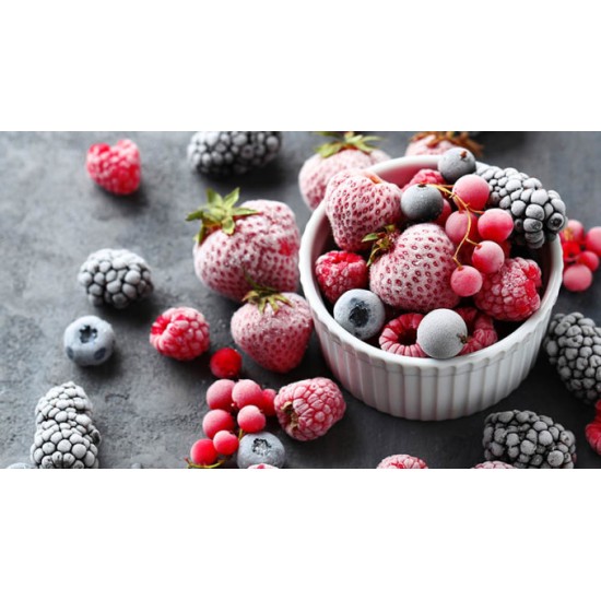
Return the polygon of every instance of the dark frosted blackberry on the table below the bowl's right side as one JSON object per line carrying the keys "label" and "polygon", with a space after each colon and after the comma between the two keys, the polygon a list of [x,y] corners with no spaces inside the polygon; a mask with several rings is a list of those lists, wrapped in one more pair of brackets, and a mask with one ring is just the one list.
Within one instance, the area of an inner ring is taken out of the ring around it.
{"label": "dark frosted blackberry on the table below the bowl's right side", "polygon": [[574,434],[533,411],[492,413],[484,422],[484,458],[514,468],[574,468]]}

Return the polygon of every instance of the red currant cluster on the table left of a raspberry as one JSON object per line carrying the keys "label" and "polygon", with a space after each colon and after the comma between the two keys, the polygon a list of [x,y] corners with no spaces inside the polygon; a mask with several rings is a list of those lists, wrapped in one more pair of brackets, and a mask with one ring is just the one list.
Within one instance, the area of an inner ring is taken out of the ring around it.
{"label": "red currant cluster on the table left of a raspberry", "polygon": [[210,411],[202,420],[207,438],[197,440],[186,461],[189,468],[219,468],[237,450],[245,434],[266,427],[267,417],[275,415],[275,390],[262,389],[254,380],[221,379],[207,390]]}

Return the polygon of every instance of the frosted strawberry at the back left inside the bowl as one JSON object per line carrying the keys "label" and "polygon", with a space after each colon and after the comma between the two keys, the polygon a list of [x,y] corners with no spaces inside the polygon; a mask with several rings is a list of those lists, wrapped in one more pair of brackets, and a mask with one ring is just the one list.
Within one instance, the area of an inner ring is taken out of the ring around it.
{"label": "frosted strawberry at the back left inside the bowl", "polygon": [[369,172],[335,175],[323,202],[335,244],[351,252],[369,248],[367,235],[401,217],[401,189]]}

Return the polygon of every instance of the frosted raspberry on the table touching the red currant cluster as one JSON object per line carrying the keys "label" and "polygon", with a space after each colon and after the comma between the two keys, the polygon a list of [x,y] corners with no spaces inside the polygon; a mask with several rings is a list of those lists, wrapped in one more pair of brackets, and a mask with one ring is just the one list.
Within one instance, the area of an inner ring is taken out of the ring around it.
{"label": "frosted raspberry on the table touching the red currant cluster", "polygon": [[275,412],[280,425],[296,440],[323,436],[342,420],[346,405],[340,388],[328,378],[302,380],[280,389]]}

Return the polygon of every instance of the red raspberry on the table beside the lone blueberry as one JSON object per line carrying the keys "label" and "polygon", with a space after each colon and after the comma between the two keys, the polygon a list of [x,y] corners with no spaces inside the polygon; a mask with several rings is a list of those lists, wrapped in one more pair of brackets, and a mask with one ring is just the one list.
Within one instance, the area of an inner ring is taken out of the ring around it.
{"label": "red raspberry on the table beside the lone blueberry", "polygon": [[209,349],[209,323],[196,309],[168,309],[152,325],[150,341],[162,355],[190,361]]}

